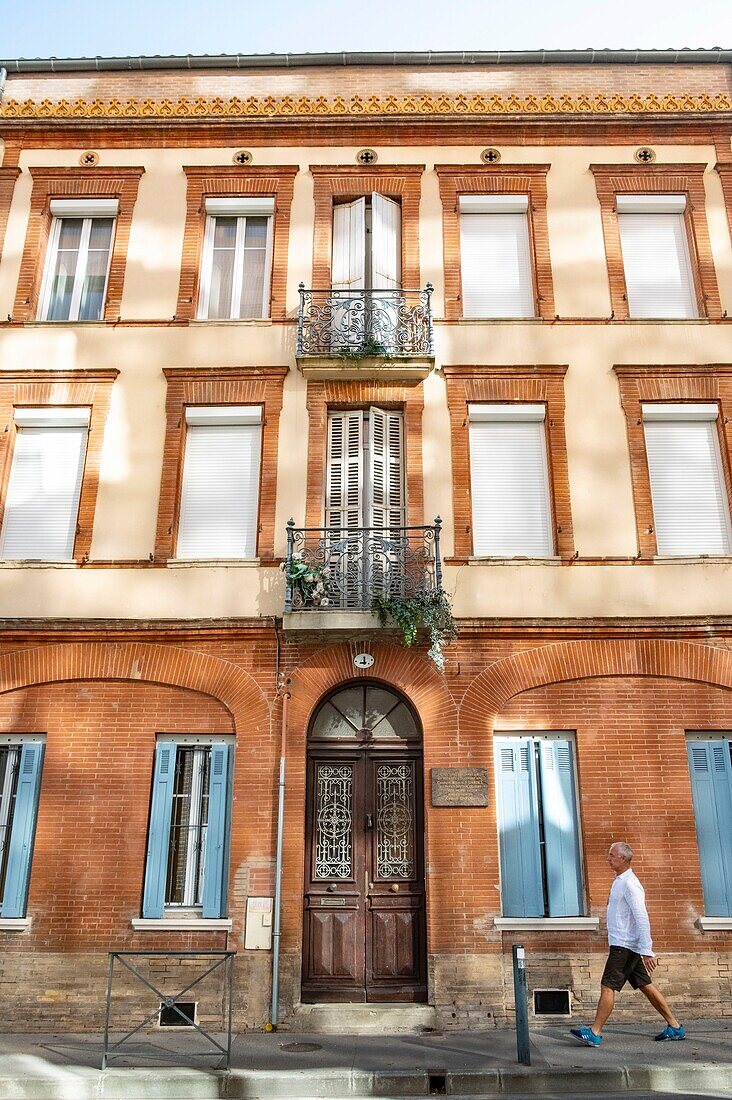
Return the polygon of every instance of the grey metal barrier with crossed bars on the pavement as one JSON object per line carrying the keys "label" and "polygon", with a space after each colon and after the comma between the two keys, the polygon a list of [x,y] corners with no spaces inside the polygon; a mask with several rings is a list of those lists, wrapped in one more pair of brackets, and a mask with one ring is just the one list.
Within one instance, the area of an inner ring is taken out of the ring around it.
{"label": "grey metal barrier with crossed bars on the pavement", "polygon": [[[236,952],[109,952],[108,954],[109,954],[109,971],[107,977],[107,1008],[105,1013],[105,1046],[101,1058],[102,1069],[107,1068],[110,1058],[113,1058],[119,1054],[119,1049],[121,1046],[128,1043],[133,1035],[138,1035],[143,1027],[146,1027],[148,1024],[151,1024],[153,1020],[155,1020],[160,1015],[161,1007],[164,1007],[177,1013],[177,1015],[179,1015],[183,1021],[183,1025],[194,1027],[199,1035],[201,1035],[205,1040],[207,1040],[210,1044],[212,1044],[212,1046],[220,1055],[223,1055],[223,1057],[226,1058],[226,1068],[227,1069],[231,1068],[231,1013],[232,1013],[233,960],[237,954]],[[132,958],[148,958],[148,959],[176,958],[179,960],[200,958],[200,959],[215,959],[216,961],[214,961],[210,966],[208,966],[203,974],[194,978],[193,981],[189,981],[186,986],[184,986],[182,990],[179,990],[177,993],[174,993],[171,997],[170,994],[157,989],[157,987],[151,980],[149,980],[149,978],[146,978],[145,975],[140,972],[136,966],[128,961],[129,959]],[[146,988],[155,994],[155,998],[159,1003],[156,1004],[154,1012],[151,1012],[150,1015],[142,1021],[142,1023],[133,1027],[132,1031],[129,1031],[125,1035],[122,1036],[122,1038],[117,1040],[116,1042],[110,1042],[109,1024],[110,1024],[111,1007],[112,1007],[112,989],[116,977],[116,971],[114,971],[116,963],[119,963],[120,966],[123,967],[125,970],[128,970],[131,975],[133,975],[134,978],[138,978],[143,986],[146,986]],[[188,993],[195,986],[198,986],[199,982],[201,982],[205,978],[208,978],[209,975],[217,971],[220,967],[223,967],[225,989],[226,989],[226,998],[222,1009],[222,1014],[226,1020],[226,1026],[223,1028],[227,1036],[226,1046],[222,1046],[221,1043],[219,1043],[218,1040],[214,1038],[214,1036],[210,1035],[204,1027],[201,1027],[194,1020],[187,1016],[185,1012],[183,1012],[176,1003],[181,1001],[181,999],[186,993]],[[187,1057],[194,1057],[194,1058],[211,1057],[211,1055],[212,1055],[211,1050],[204,1050],[201,1053],[187,1052],[186,1054]],[[140,1054],[140,1052],[138,1052],[138,1057],[149,1057],[149,1055]]]}

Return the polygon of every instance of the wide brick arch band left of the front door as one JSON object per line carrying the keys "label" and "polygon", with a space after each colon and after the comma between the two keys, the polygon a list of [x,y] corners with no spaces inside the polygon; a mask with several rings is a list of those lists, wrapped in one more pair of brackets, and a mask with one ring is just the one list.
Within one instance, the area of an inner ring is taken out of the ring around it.
{"label": "wide brick arch band left of the front door", "polygon": [[234,728],[264,737],[270,710],[249,673],[195,650],[142,642],[68,642],[0,656],[0,693],[62,680],[120,680],[165,684],[211,695],[230,712]]}

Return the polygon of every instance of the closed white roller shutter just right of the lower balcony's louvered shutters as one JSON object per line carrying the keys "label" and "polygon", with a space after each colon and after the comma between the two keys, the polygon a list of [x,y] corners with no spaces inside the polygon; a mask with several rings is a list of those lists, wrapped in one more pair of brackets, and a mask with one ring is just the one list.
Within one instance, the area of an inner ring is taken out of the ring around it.
{"label": "closed white roller shutter just right of the lower balcony's louvered shutters", "polygon": [[554,531],[543,405],[471,405],[473,553],[549,558]]}

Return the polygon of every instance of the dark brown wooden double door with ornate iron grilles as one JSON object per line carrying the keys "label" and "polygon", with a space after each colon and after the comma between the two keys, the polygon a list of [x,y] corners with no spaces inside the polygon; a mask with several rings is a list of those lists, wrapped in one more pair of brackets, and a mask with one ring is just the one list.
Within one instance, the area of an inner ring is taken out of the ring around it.
{"label": "dark brown wooden double door with ornate iron grilles", "polygon": [[426,1001],[422,751],[308,751],[303,987],[317,1001]]}

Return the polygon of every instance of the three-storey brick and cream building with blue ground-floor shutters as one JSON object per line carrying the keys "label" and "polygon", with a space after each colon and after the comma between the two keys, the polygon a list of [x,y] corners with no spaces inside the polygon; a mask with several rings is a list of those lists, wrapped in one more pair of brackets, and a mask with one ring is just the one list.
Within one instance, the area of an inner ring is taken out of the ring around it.
{"label": "three-storey brick and cream building with blue ground-floor shutters", "polygon": [[3,1026],[118,948],[271,1019],[281,758],[286,1024],[500,1021],[516,939],[586,1011],[613,839],[730,1012],[731,64],[3,64]]}

